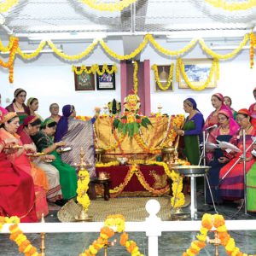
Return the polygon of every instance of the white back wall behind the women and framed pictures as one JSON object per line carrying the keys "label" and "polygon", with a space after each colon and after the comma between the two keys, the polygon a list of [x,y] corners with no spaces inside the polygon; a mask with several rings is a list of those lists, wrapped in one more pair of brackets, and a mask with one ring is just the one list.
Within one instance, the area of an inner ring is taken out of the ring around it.
{"label": "white back wall behind the women and framed pictures", "polygon": [[[165,40],[158,41],[159,44],[167,49],[180,49],[183,45],[166,43]],[[119,54],[123,54],[123,44],[121,41],[110,41],[108,45]],[[78,54],[84,50],[88,44],[64,44],[64,52],[70,55]],[[36,48],[36,46],[35,46]],[[21,47],[22,49],[22,47]],[[224,54],[224,51],[220,51]],[[196,46],[188,55],[183,58],[205,58],[201,48]],[[141,54],[141,61],[150,60],[150,65],[165,65],[176,62],[174,58],[160,55],[148,45]],[[89,58],[74,63],[91,64],[113,64],[118,67],[119,73],[116,74],[116,90],[100,91],[75,91],[74,75],[72,72],[72,62],[59,60],[54,54],[42,54],[35,61],[15,60],[15,82],[9,84],[8,72],[0,69],[0,93],[2,94],[2,105],[5,107],[9,103],[7,99],[13,99],[16,88],[23,88],[27,92],[27,97],[35,96],[39,100],[39,110],[44,118],[49,115],[49,104],[58,102],[62,107],[65,104],[73,104],[77,108],[77,113],[81,115],[92,115],[96,106],[103,107],[107,102],[120,100],[120,66],[119,61],[108,57],[100,47],[97,47]],[[256,72],[249,67],[249,52],[243,50],[241,55],[231,61],[220,61],[220,79],[218,87],[195,91],[190,89],[178,89],[177,83],[174,84],[173,91],[155,91],[154,73],[151,71],[151,110],[157,111],[158,103],[163,106],[162,113],[183,113],[183,100],[187,97],[194,97],[198,103],[198,108],[204,113],[205,117],[212,111],[211,96],[215,92],[230,96],[233,100],[233,108],[248,108],[253,99],[253,88],[256,86]],[[174,73],[175,75],[175,73]]]}

